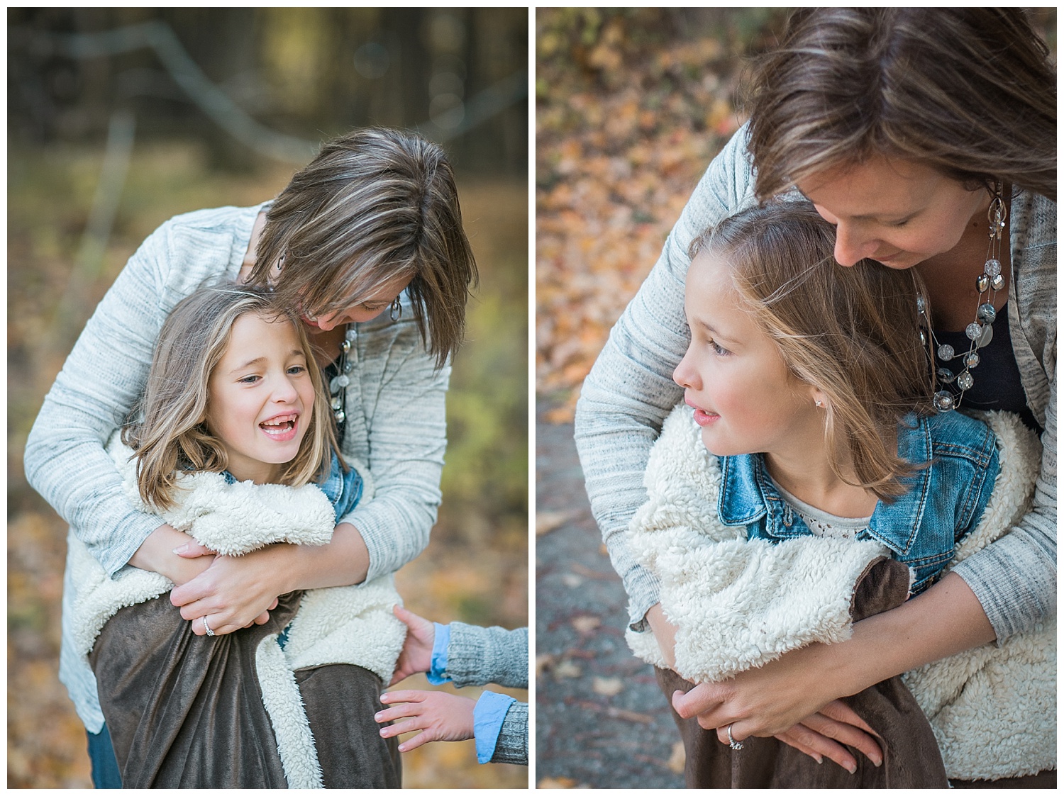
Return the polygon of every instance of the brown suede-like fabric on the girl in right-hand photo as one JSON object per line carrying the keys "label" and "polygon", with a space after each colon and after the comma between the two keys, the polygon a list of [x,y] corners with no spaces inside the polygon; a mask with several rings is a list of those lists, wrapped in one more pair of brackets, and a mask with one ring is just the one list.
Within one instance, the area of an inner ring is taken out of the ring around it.
{"label": "brown suede-like fabric on the girl in right-hand photo", "polygon": [[[909,571],[903,564],[881,559],[869,566],[853,597],[857,622],[904,602]],[[658,684],[672,705],[672,693],[686,693],[694,683],[670,670],[655,670]],[[804,752],[775,738],[743,739],[734,750],[717,740],[716,730],[703,730],[696,718],[672,718],[687,752],[684,777],[688,787],[948,787],[938,745],[924,711],[900,677],[846,697],[849,707],[876,731],[883,752],[879,767],[850,749],[855,774],[825,759],[817,763]]]}

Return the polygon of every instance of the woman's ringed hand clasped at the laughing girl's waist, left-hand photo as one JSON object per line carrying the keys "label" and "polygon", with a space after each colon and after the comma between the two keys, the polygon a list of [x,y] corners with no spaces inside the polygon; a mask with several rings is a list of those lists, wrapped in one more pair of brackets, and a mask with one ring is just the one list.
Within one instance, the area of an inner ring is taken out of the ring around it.
{"label": "woman's ringed hand clasped at the laughing girl's waist, left-hand photo", "polygon": [[193,623],[197,636],[206,632],[203,616],[216,636],[264,624],[278,595],[292,591],[280,566],[287,546],[272,545],[239,557],[216,556],[205,572],[170,592],[170,602]]}

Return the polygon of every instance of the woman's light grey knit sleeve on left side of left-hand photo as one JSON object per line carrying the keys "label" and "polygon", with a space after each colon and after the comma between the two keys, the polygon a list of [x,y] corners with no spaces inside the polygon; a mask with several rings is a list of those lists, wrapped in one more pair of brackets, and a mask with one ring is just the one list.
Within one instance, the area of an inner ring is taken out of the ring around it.
{"label": "woman's light grey knit sleeve on left side of left-hand photo", "polygon": [[246,247],[256,211],[190,214],[149,236],[85,324],[27,439],[27,480],[107,574],[120,570],[162,521],[124,496],[103,445],[144,388],[163,320],[199,283],[238,262],[243,249],[234,244],[232,218],[247,227]]}

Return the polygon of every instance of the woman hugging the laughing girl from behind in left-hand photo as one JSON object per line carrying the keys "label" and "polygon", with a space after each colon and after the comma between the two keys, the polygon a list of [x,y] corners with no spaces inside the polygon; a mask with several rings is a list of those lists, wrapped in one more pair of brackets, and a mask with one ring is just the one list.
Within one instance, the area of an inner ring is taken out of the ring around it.
{"label": "woman hugging the laughing girl from behind in left-hand photo", "polygon": [[[328,545],[182,558],[174,551],[199,552],[190,538],[131,507],[103,450],[139,396],[170,309],[223,280],[271,287],[303,318],[319,363],[332,366],[342,450],[367,463],[376,497],[348,514]],[[179,216],[145,241],[45,400],[27,441],[27,478],[110,575],[132,565],[179,585],[171,599],[197,634],[266,623],[277,598],[297,589],[395,572],[425,548],[435,521],[447,362],[475,280],[438,147],[389,130],[330,141],[272,203]],[[110,740],[93,673],[72,655],[70,636],[65,626],[61,679],[89,731],[96,768],[109,760]],[[360,682],[358,698],[375,702],[379,678]],[[315,721],[321,732],[339,729],[330,716],[310,717],[316,732]],[[377,735],[371,712],[363,718],[366,736]]]}

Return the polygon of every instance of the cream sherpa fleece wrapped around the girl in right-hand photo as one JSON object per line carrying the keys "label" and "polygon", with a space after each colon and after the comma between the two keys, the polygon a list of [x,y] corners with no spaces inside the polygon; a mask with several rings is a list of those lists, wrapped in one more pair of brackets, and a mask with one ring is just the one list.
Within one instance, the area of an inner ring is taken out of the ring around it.
{"label": "cream sherpa fleece wrapped around the girl in right-hand photo", "polygon": [[[984,416],[998,438],[1001,472],[979,526],[953,563],[998,537],[1030,508],[1041,445],[1013,416]],[[665,615],[678,627],[676,670],[721,680],[812,642],[852,633],[858,578],[888,555],[874,541],[805,537],[746,540],[716,513],[720,470],[685,406],[666,419],[645,476],[647,503],[629,526],[633,551],[662,580]],[[664,666],[650,632],[627,632],[632,650]],[[954,779],[998,779],[1055,768],[1055,625],[986,644],[904,680],[938,740]]]}

